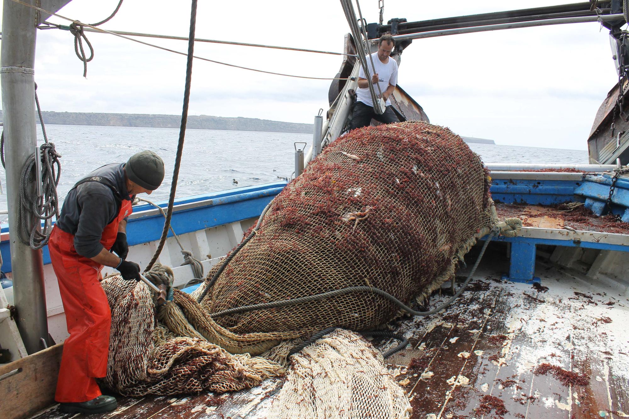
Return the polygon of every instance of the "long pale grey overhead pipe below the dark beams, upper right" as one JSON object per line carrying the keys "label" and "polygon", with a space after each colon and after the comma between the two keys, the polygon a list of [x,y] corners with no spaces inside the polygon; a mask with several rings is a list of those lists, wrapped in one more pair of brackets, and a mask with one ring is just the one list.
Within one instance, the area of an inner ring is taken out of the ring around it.
{"label": "long pale grey overhead pipe below the dark beams, upper right", "polygon": [[[421,39],[421,38],[434,38],[435,36],[445,35],[460,35],[462,33],[474,33],[474,32],[487,32],[503,29],[516,29],[516,28],[530,28],[532,26],[547,26],[547,25],[563,25],[564,23],[587,23],[596,21],[610,21],[610,20],[625,20],[622,13],[619,14],[606,14],[601,16],[577,16],[574,18],[560,18],[560,19],[548,19],[548,20],[534,20],[526,22],[514,22],[514,23],[501,23],[499,25],[486,25],[476,26],[473,28],[457,28],[457,29],[444,29],[438,31],[428,31],[421,33],[409,33],[408,35],[396,35],[393,36],[395,40],[408,40],[408,39]],[[374,40],[374,42],[377,40]]]}

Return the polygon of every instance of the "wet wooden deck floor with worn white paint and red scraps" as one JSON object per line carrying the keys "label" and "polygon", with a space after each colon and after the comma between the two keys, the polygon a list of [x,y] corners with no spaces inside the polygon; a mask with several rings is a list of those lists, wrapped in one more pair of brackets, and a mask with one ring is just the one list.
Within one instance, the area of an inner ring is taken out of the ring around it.
{"label": "wet wooden deck floor with worn white paint and red scraps", "polygon": [[[627,417],[626,281],[593,282],[543,262],[535,272],[542,286],[502,281],[508,260],[501,247],[490,244],[474,281],[447,310],[396,321],[410,344],[386,362],[408,391],[412,417]],[[447,298],[433,296],[431,306]],[[397,342],[377,344],[386,350]],[[543,364],[559,368],[540,371],[548,369]],[[121,398],[116,411],[93,417],[265,418],[282,383],[222,395]],[[52,406],[33,417],[72,415]]]}

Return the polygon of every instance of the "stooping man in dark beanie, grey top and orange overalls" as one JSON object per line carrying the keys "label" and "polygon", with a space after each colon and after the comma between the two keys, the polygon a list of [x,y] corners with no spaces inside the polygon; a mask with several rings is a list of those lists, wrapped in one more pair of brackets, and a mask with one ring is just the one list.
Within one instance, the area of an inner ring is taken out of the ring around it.
{"label": "stooping man in dark beanie, grey top and orange overalls", "polygon": [[152,193],[162,180],[164,162],[145,150],[126,163],[99,167],[77,182],[65,198],[48,242],[70,333],[55,394],[65,413],[103,413],[116,408],[116,399],[104,396],[96,383],[96,378],[107,374],[111,325],[101,269],[111,266],[124,279],[140,279],[140,266],[125,260],[129,252],[126,218],[135,195]]}

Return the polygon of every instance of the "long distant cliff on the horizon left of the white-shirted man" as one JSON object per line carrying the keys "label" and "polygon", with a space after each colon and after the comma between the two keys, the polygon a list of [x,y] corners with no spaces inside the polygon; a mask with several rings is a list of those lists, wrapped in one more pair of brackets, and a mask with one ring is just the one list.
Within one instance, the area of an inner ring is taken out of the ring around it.
{"label": "long distant cliff on the horizon left of the white-shirted man", "polygon": [[[148,126],[155,128],[179,128],[179,125],[181,125],[181,115],[82,112],[42,112],[42,114],[44,123],[58,125]],[[0,111],[0,118],[2,118],[2,111]],[[208,115],[189,115],[187,128],[308,134],[313,131],[311,124],[259,120],[257,118],[223,118],[221,116]]]}

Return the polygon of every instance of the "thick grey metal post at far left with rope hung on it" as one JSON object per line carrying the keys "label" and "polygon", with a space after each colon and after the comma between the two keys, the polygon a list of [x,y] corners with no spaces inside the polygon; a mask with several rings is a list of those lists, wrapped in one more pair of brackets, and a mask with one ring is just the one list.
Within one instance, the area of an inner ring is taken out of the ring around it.
{"label": "thick grey metal post at far left with rope hung on it", "polygon": [[[24,0],[35,4],[36,0]],[[19,333],[29,354],[48,340],[42,252],[19,240],[19,176],[36,145],[35,127],[35,9],[11,0],[3,2],[0,84],[4,110],[6,189],[13,294]],[[34,183],[34,182],[33,182]],[[35,185],[31,184],[33,190]],[[29,220],[39,224],[39,220]]]}

